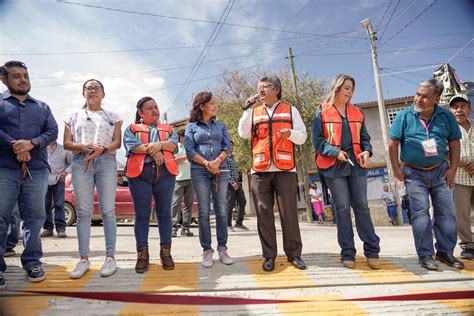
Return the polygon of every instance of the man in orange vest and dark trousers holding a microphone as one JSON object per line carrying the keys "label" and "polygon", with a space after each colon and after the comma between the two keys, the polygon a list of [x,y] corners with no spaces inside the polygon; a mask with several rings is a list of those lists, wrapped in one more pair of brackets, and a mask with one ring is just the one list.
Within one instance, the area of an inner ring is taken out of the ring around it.
{"label": "man in orange vest and dark trousers holding a microphone", "polygon": [[255,105],[248,107],[239,121],[240,137],[252,139],[252,193],[264,257],[262,269],[266,272],[275,268],[278,254],[275,196],[287,260],[297,269],[306,269],[301,259],[303,244],[298,223],[294,151],[294,144],[306,141],[306,127],[298,110],[282,102],[281,95],[278,77],[260,78],[258,95],[247,100],[247,107]]}

